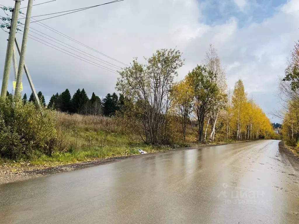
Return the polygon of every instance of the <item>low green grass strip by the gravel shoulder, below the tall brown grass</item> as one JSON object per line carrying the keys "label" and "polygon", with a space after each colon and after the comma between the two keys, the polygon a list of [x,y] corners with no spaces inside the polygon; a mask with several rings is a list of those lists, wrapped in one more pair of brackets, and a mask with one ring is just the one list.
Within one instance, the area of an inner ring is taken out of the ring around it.
{"label": "low green grass strip by the gravel shoulder, below the tall brown grass", "polygon": [[105,131],[67,130],[60,133],[59,144],[62,151],[54,151],[51,156],[34,152],[19,160],[1,159],[0,163],[22,163],[32,165],[57,166],[95,159],[130,156],[139,154],[138,149],[148,153],[171,150],[169,146],[153,146],[140,142],[132,136]]}

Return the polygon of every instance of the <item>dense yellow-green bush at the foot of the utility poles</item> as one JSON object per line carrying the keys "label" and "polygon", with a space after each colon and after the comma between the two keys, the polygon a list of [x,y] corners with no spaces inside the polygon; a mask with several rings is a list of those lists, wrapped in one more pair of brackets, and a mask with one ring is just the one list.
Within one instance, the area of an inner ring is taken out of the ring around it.
{"label": "dense yellow-green bush at the foot of the utility poles", "polygon": [[51,155],[57,138],[55,113],[32,102],[0,99],[0,156],[29,158],[39,151]]}

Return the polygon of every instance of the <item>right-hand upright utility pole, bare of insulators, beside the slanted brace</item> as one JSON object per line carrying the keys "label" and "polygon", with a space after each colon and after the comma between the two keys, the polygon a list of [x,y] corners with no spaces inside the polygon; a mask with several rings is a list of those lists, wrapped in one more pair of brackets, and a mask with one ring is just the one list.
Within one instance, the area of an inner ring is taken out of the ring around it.
{"label": "right-hand upright utility pole, bare of insulators, beside the slanted brace", "polygon": [[[20,60],[19,60],[18,75],[17,75],[17,81],[16,81],[15,97],[19,97],[19,95],[21,95],[20,87],[21,87],[21,82],[22,82],[23,67],[24,67],[24,63],[25,63],[25,52],[26,52],[26,47],[27,47],[27,39],[28,39],[32,4],[33,4],[33,0],[28,0],[26,20],[25,20],[25,26],[24,26],[24,31],[23,31],[24,32],[23,33],[23,41],[22,41],[21,54],[20,54]],[[11,56],[10,56],[10,58],[11,58]]]}

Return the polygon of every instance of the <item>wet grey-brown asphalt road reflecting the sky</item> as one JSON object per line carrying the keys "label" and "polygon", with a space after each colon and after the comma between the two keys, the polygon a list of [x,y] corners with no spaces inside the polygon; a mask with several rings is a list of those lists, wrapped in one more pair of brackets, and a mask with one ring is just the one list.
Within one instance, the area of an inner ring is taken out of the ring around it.
{"label": "wet grey-brown asphalt road reflecting the sky", "polygon": [[0,185],[0,223],[299,223],[299,175],[262,140]]}

